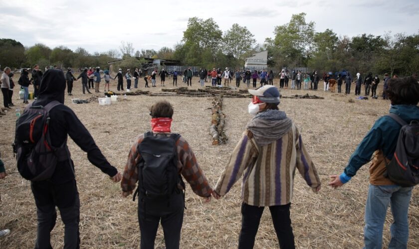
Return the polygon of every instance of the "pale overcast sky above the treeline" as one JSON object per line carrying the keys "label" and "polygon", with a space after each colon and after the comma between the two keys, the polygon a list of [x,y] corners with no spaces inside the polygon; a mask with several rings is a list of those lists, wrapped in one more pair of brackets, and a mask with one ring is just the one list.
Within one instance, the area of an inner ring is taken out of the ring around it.
{"label": "pale overcast sky above the treeline", "polygon": [[246,26],[258,43],[300,12],[317,32],[339,36],[419,32],[418,0],[0,0],[0,9],[0,38],[89,52],[119,49],[121,41],[135,50],[173,48],[193,16],[212,17],[222,31]]}

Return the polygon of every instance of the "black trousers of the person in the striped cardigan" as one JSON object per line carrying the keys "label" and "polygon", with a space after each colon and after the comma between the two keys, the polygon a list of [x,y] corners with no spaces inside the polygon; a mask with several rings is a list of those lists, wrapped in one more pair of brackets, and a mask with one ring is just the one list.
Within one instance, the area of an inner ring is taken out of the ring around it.
{"label": "black trousers of the person in the striped cardigan", "polygon": [[[271,206],[269,210],[272,216],[273,227],[281,249],[294,249],[294,234],[292,233],[289,209],[291,203],[282,206]],[[252,249],[254,238],[259,228],[260,217],[264,207],[241,204],[241,230],[238,239],[239,249]]]}

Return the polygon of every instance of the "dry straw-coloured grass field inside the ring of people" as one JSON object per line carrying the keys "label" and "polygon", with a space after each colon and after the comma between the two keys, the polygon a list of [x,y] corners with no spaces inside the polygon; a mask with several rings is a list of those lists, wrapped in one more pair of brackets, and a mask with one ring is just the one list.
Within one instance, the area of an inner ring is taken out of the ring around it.
{"label": "dry straw-coloured grass field inside the ring of people", "polygon": [[[76,74],[77,76],[78,74]],[[17,81],[17,77],[15,78]],[[198,88],[198,78],[193,79],[192,89]],[[160,92],[161,88],[141,90]],[[159,80],[158,80],[159,82]],[[167,85],[169,81],[167,81]],[[125,84],[125,83],[124,83]],[[206,83],[209,85],[210,83]],[[151,85],[151,84],[150,84]],[[160,86],[160,82],[157,84]],[[279,82],[275,81],[275,85]],[[319,84],[323,88],[323,84]],[[185,86],[179,83],[178,86]],[[381,92],[383,85],[379,85]],[[244,89],[243,86],[240,88]],[[31,88],[30,88],[31,89]],[[103,90],[103,84],[101,85]],[[116,82],[111,82],[116,90]],[[340,174],[357,144],[374,124],[385,115],[390,103],[384,100],[356,100],[352,94],[330,92],[282,90],[283,96],[317,94],[324,100],[282,99],[280,109],[285,111],[299,127],[309,153],[318,169],[322,190],[314,194],[296,172],[291,220],[297,248],[362,248],[364,208],[369,184],[368,165],[342,188],[327,186],[330,174]],[[73,98],[87,99],[81,93],[80,81],[74,83]],[[14,104],[23,108],[16,100]],[[0,97],[2,100],[2,97]],[[225,132],[227,144],[211,145],[209,135],[212,98],[128,96],[116,105],[99,106],[97,103],[72,104],[66,96],[65,104],[71,107],[86,125],[106,158],[118,170],[123,171],[128,150],[135,137],[150,128],[148,108],[156,101],[166,99],[175,109],[172,130],[181,133],[193,148],[200,166],[214,186],[228,162],[241,133],[251,119],[247,114],[249,99],[224,98],[226,114]],[[349,100],[354,100],[353,103]],[[121,99],[120,99],[121,100]],[[1,103],[1,102],[0,102]],[[8,228],[11,234],[0,239],[0,248],[33,248],[36,237],[36,208],[30,184],[17,172],[12,155],[14,137],[14,110],[0,118],[0,149],[8,176],[0,180],[0,228]],[[120,195],[120,184],[109,178],[87,160],[83,152],[69,138],[69,148],[75,163],[76,179],[80,193],[80,237],[82,248],[138,248],[140,242],[137,221],[137,202],[132,196]],[[182,229],[181,248],[236,248],[240,230],[240,182],[222,199],[204,203],[188,187]],[[384,229],[384,245],[390,240],[392,216],[387,216]],[[419,188],[413,190],[409,210],[410,249],[419,248]],[[63,224],[57,224],[51,233],[53,248],[63,247]],[[164,248],[163,231],[159,228],[156,248]],[[256,236],[255,248],[278,248],[270,214],[265,210]]]}

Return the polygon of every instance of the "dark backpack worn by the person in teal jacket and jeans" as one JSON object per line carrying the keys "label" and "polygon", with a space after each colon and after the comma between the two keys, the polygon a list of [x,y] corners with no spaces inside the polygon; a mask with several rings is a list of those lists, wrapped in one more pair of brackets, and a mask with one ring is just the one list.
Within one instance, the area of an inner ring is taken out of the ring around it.
{"label": "dark backpack worn by the person in teal jacket and jeans", "polygon": [[410,124],[395,114],[387,115],[402,125],[393,159],[387,163],[385,176],[402,187],[419,183],[419,122]]}

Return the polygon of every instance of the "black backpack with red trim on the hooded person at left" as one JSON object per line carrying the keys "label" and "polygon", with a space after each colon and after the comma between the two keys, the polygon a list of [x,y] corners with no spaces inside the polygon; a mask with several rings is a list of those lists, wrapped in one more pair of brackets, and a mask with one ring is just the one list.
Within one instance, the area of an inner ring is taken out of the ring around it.
{"label": "black backpack with red trim on the hooded person at left", "polygon": [[67,141],[56,148],[49,136],[49,112],[58,105],[61,105],[58,101],[44,107],[32,106],[31,103],[16,121],[13,151],[16,153],[17,170],[26,180],[50,179],[57,162],[70,158]]}

